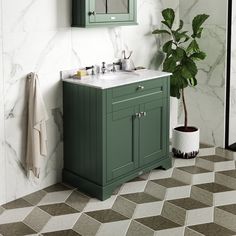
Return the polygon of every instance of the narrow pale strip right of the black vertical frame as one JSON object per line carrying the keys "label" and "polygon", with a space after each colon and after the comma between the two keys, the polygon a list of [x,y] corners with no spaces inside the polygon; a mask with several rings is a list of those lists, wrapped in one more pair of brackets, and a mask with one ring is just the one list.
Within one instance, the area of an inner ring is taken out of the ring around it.
{"label": "narrow pale strip right of the black vertical frame", "polygon": [[236,143],[236,3],[232,8],[229,144]]}

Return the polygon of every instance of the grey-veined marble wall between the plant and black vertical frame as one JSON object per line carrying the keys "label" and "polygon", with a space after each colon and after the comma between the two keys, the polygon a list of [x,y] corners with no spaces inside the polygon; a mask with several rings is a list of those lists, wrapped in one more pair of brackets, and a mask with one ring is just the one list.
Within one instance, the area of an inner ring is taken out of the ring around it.
{"label": "grey-veined marble wall between the plant and black vertical frame", "polygon": [[[180,0],[180,18],[188,29],[200,13],[210,15],[200,43],[207,59],[198,64],[197,87],[186,90],[189,123],[200,128],[201,142],[223,146],[227,1]],[[179,114],[182,123],[183,113]]]}

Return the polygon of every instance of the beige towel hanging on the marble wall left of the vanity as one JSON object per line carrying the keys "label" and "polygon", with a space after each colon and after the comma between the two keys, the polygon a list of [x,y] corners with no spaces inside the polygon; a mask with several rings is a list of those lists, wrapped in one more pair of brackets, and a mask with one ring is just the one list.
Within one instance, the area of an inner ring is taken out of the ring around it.
{"label": "beige towel hanging on the marble wall left of the vanity", "polygon": [[47,156],[46,120],[48,114],[40,92],[37,74],[27,76],[28,124],[26,170],[39,178],[41,158]]}

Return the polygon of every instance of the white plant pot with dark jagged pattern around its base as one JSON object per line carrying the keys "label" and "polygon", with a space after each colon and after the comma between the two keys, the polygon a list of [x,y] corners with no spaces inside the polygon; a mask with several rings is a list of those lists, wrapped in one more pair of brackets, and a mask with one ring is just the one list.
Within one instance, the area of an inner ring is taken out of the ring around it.
{"label": "white plant pot with dark jagged pattern around its base", "polygon": [[199,153],[199,134],[197,128],[192,132],[179,131],[174,128],[172,132],[172,152],[174,156],[184,159],[196,157]]}

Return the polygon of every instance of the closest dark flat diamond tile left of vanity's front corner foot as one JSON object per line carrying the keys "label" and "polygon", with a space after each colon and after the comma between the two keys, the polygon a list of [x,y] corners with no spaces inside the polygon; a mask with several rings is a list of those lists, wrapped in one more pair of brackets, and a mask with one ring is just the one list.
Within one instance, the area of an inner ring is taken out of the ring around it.
{"label": "closest dark flat diamond tile left of vanity's front corner foot", "polygon": [[47,212],[51,216],[59,216],[59,215],[68,215],[78,213],[77,210],[68,206],[65,203],[58,203],[58,204],[50,204],[50,205],[43,205],[39,206],[40,209]]}

